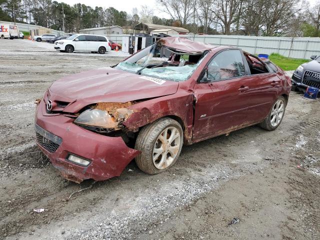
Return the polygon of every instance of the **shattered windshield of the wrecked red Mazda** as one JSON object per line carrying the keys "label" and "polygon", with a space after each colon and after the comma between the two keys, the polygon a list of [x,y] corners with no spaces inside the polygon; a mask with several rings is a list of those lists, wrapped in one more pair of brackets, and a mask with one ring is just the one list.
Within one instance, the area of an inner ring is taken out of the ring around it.
{"label": "shattered windshield of the wrecked red Mazda", "polygon": [[114,68],[163,80],[187,80],[201,63],[205,52],[199,54],[169,52],[168,58],[153,57],[156,43],[120,62]]}

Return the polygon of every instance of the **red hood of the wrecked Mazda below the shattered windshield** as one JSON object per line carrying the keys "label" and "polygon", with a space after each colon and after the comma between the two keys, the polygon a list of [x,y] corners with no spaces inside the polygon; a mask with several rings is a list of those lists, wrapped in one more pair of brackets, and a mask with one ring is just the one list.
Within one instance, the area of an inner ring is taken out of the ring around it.
{"label": "red hood of the wrecked Mazda below the shattered windshield", "polygon": [[[179,83],[103,67],[62,77],[49,87],[53,102],[69,102],[65,112],[77,112],[97,102],[128,102],[173,94]],[[54,110],[54,109],[53,109]]]}

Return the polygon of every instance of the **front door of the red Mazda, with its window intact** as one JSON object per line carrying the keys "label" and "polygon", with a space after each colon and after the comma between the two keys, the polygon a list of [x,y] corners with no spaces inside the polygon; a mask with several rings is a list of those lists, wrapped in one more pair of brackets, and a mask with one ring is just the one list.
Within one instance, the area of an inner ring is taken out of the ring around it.
{"label": "front door of the red Mazda, with its window intact", "polygon": [[248,72],[238,49],[217,53],[208,64],[207,83],[194,87],[193,140],[229,132],[247,124]]}

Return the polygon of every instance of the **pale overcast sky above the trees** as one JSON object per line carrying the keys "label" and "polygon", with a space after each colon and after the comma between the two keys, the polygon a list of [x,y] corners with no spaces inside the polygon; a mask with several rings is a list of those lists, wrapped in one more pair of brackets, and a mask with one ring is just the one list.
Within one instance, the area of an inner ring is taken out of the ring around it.
{"label": "pale overcast sky above the trees", "polygon": [[[59,2],[63,1],[69,5],[73,5],[75,3],[81,3],[85,5],[89,5],[91,7],[101,6],[103,8],[108,8],[110,6],[114,7],[119,11],[126,11],[131,14],[131,10],[133,7],[140,8],[141,5],[147,5],[153,9],[153,14],[158,17],[170,18],[170,16],[161,11],[158,7],[156,0],[117,0],[117,1],[106,1],[106,0],[58,0]],[[314,5],[318,0],[308,0],[310,5]],[[111,3],[111,5],[110,5]]]}

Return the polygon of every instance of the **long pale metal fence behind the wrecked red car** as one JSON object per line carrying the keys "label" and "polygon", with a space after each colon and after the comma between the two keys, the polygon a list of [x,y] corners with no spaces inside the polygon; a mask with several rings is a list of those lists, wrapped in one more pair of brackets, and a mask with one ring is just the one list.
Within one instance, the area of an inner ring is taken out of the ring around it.
{"label": "long pale metal fence behind the wrecked red car", "polygon": [[[112,34],[111,41],[122,43],[122,36],[129,34]],[[279,53],[292,58],[309,58],[320,55],[319,37],[270,37],[270,36],[237,36],[237,35],[173,35],[184,36],[191,40],[213,45],[236,46],[252,54]]]}

